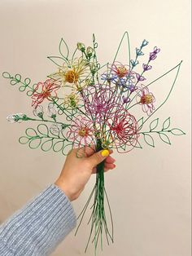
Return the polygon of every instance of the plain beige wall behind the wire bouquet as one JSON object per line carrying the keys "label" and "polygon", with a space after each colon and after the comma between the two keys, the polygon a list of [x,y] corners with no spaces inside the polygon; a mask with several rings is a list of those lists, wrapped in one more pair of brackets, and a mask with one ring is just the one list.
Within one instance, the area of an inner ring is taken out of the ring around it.
{"label": "plain beige wall behind the wire bouquet", "polygon": [[[115,224],[115,244],[105,256],[190,256],[190,1],[188,0],[31,0],[0,1],[0,72],[21,73],[33,82],[55,68],[47,55],[57,54],[61,37],[69,45],[89,44],[97,36],[101,61],[112,60],[125,30],[132,50],[146,38],[161,53],[149,80],[184,60],[173,94],[155,117],[172,117],[172,126],[186,134],[171,137],[172,146],[155,139],[156,148],[144,146],[117,154],[116,170],[106,176]],[[148,50],[150,49],[148,47]],[[166,77],[156,87],[161,95],[170,85]],[[26,124],[11,125],[9,113],[31,113],[30,101],[0,78],[1,170],[0,221],[55,181],[65,157],[29,150],[18,143]],[[74,208],[84,205],[94,177]],[[56,255],[84,255],[86,225],[72,233]],[[87,255],[93,255],[89,248]],[[99,254],[98,254],[99,255]]]}

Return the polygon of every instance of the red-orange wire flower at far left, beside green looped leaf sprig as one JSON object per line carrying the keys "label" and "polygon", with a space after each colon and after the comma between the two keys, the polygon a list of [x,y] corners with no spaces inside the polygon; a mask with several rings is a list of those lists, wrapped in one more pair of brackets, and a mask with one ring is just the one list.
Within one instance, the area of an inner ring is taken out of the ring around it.
{"label": "red-orange wire flower at far left, beside green looped leaf sprig", "polygon": [[54,79],[38,82],[32,95],[32,106],[37,108],[38,104],[41,104],[44,99],[51,100],[51,97],[57,97],[56,90],[59,90],[59,88],[60,82],[56,82]]}

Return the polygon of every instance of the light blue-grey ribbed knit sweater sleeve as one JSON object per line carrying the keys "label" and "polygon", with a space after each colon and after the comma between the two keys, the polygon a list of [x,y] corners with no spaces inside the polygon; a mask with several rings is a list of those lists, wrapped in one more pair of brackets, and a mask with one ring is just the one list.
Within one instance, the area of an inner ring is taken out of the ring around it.
{"label": "light blue-grey ribbed knit sweater sleeve", "polygon": [[76,226],[68,197],[54,184],[0,226],[0,255],[50,255]]}

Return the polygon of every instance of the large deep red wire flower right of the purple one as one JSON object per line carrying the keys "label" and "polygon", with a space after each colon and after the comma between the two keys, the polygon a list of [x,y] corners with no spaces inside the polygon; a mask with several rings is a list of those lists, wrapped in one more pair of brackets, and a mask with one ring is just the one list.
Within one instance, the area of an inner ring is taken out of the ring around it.
{"label": "large deep red wire flower right of the purple one", "polygon": [[118,152],[124,147],[124,152],[129,152],[136,146],[139,136],[137,121],[126,109],[118,109],[114,117],[107,121],[107,125]]}

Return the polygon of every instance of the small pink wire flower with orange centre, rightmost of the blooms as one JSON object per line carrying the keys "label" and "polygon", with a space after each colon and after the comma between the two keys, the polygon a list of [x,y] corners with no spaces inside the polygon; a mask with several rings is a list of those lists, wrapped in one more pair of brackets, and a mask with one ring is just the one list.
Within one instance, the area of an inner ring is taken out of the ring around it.
{"label": "small pink wire flower with orange centre, rightmost of the blooms", "polygon": [[138,90],[137,103],[142,105],[143,112],[147,113],[147,115],[150,116],[151,113],[153,113],[153,111],[155,110],[155,107],[154,107],[155,97],[149,91],[149,88],[143,85],[138,86],[137,90]]}

